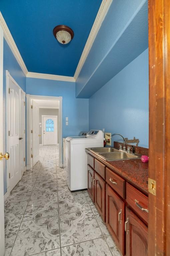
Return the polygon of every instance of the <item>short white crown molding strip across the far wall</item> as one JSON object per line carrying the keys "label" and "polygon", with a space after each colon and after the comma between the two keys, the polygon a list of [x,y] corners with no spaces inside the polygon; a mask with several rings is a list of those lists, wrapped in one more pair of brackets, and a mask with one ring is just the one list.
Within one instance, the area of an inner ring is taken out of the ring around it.
{"label": "short white crown molding strip across the far wall", "polygon": [[50,74],[35,73],[35,72],[28,72],[26,77],[48,79],[48,80],[58,80],[58,81],[66,81],[66,82],[75,82],[75,79],[72,76],[58,76],[58,75],[50,75]]}

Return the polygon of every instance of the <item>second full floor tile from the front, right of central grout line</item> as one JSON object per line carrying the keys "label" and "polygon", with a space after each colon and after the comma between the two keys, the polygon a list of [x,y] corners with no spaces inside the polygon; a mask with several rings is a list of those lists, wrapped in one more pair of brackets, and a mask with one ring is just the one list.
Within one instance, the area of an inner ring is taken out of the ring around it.
{"label": "second full floor tile from the front, right of central grout line", "polygon": [[59,214],[90,209],[89,203],[83,193],[59,196],[58,203]]}

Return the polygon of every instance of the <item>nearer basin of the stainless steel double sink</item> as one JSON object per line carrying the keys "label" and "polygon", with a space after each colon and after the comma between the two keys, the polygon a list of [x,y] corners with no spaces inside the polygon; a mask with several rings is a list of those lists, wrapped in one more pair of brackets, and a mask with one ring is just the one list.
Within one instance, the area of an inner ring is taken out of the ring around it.
{"label": "nearer basin of the stainless steel double sink", "polygon": [[125,159],[137,159],[140,155],[132,155],[126,152],[114,152],[114,153],[99,153],[99,155],[106,161],[125,160]]}

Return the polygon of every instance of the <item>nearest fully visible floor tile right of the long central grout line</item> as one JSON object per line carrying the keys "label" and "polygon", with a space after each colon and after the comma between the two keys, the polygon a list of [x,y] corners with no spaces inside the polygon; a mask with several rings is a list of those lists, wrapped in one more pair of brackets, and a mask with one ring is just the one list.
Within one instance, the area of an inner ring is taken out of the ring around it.
{"label": "nearest fully visible floor tile right of the long central grout line", "polygon": [[92,210],[59,215],[61,246],[102,237]]}

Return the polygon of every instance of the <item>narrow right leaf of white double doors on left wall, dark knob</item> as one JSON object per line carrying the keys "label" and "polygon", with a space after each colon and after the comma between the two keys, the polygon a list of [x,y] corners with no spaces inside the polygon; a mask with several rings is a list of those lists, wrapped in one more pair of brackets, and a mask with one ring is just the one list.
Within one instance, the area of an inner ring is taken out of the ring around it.
{"label": "narrow right leaf of white double doors on left wall, dark knob", "polygon": [[20,179],[25,168],[25,93],[21,91],[20,96]]}

